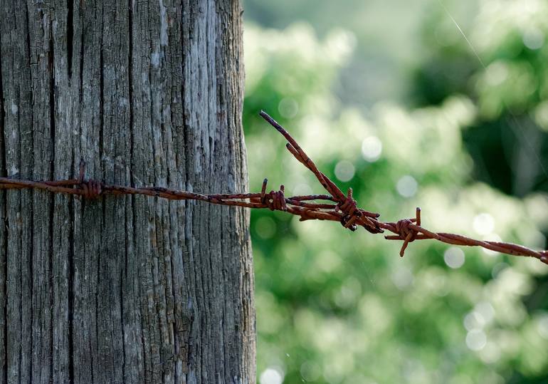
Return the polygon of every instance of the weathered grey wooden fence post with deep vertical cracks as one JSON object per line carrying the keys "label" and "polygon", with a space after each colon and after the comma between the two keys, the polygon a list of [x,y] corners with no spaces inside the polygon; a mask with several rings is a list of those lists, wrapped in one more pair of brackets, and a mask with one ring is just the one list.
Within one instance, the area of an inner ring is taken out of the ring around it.
{"label": "weathered grey wooden fence post with deep vertical cracks", "polygon": [[[246,190],[237,0],[1,1],[1,174]],[[0,191],[0,383],[255,381],[248,213]]]}

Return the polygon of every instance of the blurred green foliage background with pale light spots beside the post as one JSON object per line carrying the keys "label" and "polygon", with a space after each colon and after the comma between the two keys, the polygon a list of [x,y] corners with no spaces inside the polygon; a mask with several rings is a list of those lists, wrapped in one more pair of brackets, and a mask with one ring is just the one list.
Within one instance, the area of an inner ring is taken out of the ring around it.
{"label": "blurred green foliage background with pale light spots beside the post", "polygon": [[[246,0],[250,187],[322,193],[266,110],[384,221],[545,249],[548,2]],[[462,33],[461,33],[462,31]],[[463,36],[464,35],[464,36]],[[548,267],[251,215],[258,382],[548,383]]]}

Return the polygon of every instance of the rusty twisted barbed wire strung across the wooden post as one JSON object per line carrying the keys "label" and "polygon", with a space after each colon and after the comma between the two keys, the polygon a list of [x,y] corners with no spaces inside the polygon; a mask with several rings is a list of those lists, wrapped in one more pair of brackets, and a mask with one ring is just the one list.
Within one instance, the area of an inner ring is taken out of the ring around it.
{"label": "rusty twisted barbed wire strung across the wooden post", "polygon": [[[300,217],[300,221],[329,220],[332,222],[340,222],[344,228],[351,231],[356,231],[359,227],[364,227],[364,229],[373,234],[384,233],[384,230],[392,232],[393,234],[385,236],[384,238],[388,240],[403,241],[399,253],[402,257],[404,256],[404,252],[409,243],[416,240],[435,239],[438,240],[438,242],[446,244],[483,247],[485,249],[490,249],[491,251],[513,256],[531,256],[539,259],[544,264],[548,264],[548,251],[535,251],[534,249],[512,243],[472,239],[460,234],[432,232],[421,226],[420,208],[416,209],[416,217],[414,218],[401,219],[398,222],[381,222],[379,220],[380,214],[369,212],[357,206],[356,200],[352,197],[352,188],[349,188],[347,194],[344,194],[329,177],[318,170],[312,159],[308,157],[295,139],[293,139],[278,122],[264,111],[260,112],[260,116],[285,137],[285,140],[288,141],[285,146],[288,148],[289,152],[315,175],[328,194],[285,197],[285,188],[283,185],[280,186],[280,190],[270,190],[270,192],[266,192],[267,179],[263,180],[263,187],[261,188],[260,193],[236,194],[199,194],[164,187],[126,187],[122,185],[108,185],[97,180],[85,180],[84,162],[80,162],[78,179],[31,181],[0,177],[0,190],[32,188],[47,190],[53,193],[75,194],[85,199],[97,199],[98,197],[108,194],[143,194],[146,196],[172,200],[200,200],[211,204],[270,209],[272,211],[283,211],[294,214],[295,216]],[[324,202],[318,202],[319,200],[323,200]]]}

